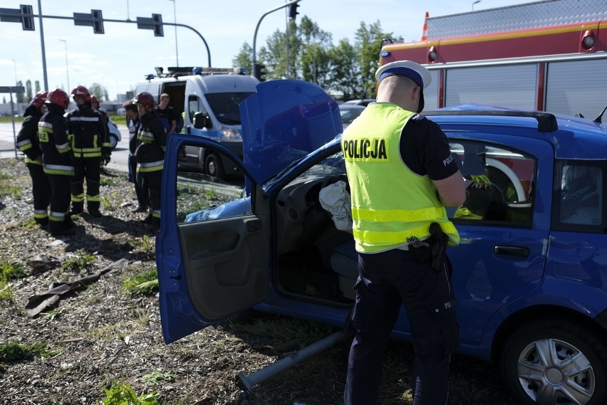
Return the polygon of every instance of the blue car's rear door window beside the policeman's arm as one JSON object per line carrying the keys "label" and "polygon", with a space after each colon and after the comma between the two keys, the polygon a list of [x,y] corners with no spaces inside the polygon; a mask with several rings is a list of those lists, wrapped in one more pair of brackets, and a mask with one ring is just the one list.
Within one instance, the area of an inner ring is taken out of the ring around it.
{"label": "blue car's rear door window beside the policeman's arm", "polygon": [[468,184],[465,203],[447,210],[450,218],[531,226],[534,157],[484,142],[451,142],[450,147]]}

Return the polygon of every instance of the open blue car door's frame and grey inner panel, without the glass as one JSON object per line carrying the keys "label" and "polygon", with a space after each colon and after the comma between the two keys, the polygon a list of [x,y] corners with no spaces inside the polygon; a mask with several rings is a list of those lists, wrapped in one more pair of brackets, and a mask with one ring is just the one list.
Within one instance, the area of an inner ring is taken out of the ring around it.
{"label": "open blue car door's frame and grey inner panel, without the glass", "polygon": [[[178,154],[185,144],[232,159],[249,181],[251,214],[177,223]],[[161,198],[156,262],[162,335],[170,343],[247,310],[266,297],[269,223],[266,214],[256,214],[256,206],[263,205],[264,190],[242,160],[219,142],[196,135],[169,135]],[[209,240],[213,241],[209,246],[201,244]],[[232,274],[227,275],[227,271]]]}

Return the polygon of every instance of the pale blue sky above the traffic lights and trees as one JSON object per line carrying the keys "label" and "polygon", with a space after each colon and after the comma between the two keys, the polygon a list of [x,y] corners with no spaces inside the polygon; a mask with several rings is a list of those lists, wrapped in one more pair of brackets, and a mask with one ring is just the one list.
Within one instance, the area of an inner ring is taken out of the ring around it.
{"label": "pale blue sky above the traffic lights and trees", "polygon": [[[256,27],[256,50],[276,31],[285,31],[286,9],[269,11],[287,0],[0,0],[1,9],[19,9],[20,4],[38,4],[43,16],[43,43],[46,55],[48,90],[63,88],[68,93],[77,85],[103,85],[110,100],[118,93],[133,90],[156,66],[209,66],[231,68],[244,43],[252,47]],[[402,36],[405,42],[419,41],[425,13],[430,17],[493,9],[529,0],[301,0],[298,21],[307,16],[321,30],[331,33],[333,43],[347,38],[354,43],[360,23],[379,22],[382,31]],[[475,4],[473,4],[475,3]],[[194,28],[164,26],[164,36],[135,23],[104,23],[104,34],[91,26],[76,26],[73,13],[101,10],[104,19],[136,21],[161,14],[162,21]],[[266,14],[264,16],[264,14]],[[36,80],[44,87],[41,27],[23,31],[21,23],[0,22],[0,86],[17,80]],[[177,38],[177,41],[175,39]],[[208,46],[205,46],[205,43]]]}

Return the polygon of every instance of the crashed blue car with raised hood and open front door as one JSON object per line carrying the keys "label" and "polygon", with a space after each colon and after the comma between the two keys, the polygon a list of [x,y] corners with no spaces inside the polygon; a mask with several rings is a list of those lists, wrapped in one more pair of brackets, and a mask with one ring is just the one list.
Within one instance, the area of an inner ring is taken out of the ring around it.
{"label": "crashed blue car with raised hood and open front door", "polygon": [[[167,343],[251,307],[342,327],[353,306],[338,105],[274,80],[240,111],[244,162],[212,140],[167,142],[156,238]],[[427,115],[469,183],[448,211],[460,352],[497,364],[520,404],[605,404],[607,126],[485,105]],[[244,182],[180,172],[183,145],[228,157]],[[410,340],[404,309],[393,337]]]}

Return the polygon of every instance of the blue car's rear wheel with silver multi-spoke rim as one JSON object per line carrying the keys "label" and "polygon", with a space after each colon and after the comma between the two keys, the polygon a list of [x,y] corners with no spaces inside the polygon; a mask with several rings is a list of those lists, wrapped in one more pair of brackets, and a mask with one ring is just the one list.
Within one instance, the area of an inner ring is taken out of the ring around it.
{"label": "blue car's rear wheel with silver multi-spoke rim", "polygon": [[499,370],[519,404],[598,405],[606,400],[605,340],[566,320],[519,327],[504,345]]}

